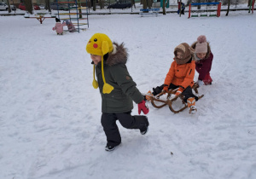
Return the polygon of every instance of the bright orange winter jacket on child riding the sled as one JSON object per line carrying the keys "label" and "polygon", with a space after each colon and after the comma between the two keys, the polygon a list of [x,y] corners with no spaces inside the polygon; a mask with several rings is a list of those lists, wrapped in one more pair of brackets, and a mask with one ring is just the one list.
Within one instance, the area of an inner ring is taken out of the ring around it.
{"label": "bright orange winter jacket on child riding the sled", "polygon": [[165,84],[175,84],[186,89],[188,86],[193,86],[195,75],[195,61],[178,65],[176,61],[172,62],[169,72],[166,75]]}

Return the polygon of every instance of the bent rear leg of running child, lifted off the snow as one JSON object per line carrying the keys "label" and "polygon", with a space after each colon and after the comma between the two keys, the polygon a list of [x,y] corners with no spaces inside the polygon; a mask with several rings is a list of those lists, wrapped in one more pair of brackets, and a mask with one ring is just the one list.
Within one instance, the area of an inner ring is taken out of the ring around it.
{"label": "bent rear leg of running child, lifted off the snow", "polygon": [[146,116],[131,116],[131,112],[117,113],[116,116],[120,124],[126,129],[137,129],[141,130],[141,132],[148,129],[149,124]]}

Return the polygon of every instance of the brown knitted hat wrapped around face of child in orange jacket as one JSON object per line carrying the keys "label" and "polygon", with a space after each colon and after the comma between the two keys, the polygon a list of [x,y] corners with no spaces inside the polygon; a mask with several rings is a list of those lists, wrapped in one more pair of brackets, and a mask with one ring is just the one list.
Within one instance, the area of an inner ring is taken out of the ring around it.
{"label": "brown knitted hat wrapped around face of child in orange jacket", "polygon": [[[192,49],[189,47],[188,43],[180,43],[177,45],[177,47],[174,49],[174,60],[177,62],[177,64],[182,65],[187,63],[191,59],[191,50]],[[183,58],[177,58],[177,51],[183,54]]]}

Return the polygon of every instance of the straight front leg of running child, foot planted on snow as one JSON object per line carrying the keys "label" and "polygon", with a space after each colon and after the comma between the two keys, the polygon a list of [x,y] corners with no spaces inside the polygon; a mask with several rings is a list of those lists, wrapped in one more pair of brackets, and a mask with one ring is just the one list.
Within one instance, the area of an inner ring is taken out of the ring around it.
{"label": "straight front leg of running child, foot planted on snow", "polygon": [[118,146],[121,143],[119,128],[116,124],[117,117],[114,113],[102,113],[102,127],[107,136],[108,146]]}

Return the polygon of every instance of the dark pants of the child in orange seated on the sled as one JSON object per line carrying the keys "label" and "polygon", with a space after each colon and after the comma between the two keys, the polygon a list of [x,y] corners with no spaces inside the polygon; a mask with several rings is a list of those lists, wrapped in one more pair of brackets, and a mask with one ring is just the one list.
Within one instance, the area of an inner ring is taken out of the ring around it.
{"label": "dark pants of the child in orange seated on the sled", "polygon": [[[153,95],[160,94],[160,92],[162,92],[162,90],[164,89],[164,85],[165,84],[162,84],[161,86],[157,86],[156,88],[154,88]],[[178,87],[179,86],[177,86],[177,85],[170,84],[168,90],[177,89]],[[193,94],[192,88],[190,86],[188,86],[185,90],[183,90],[182,94],[184,95],[184,99],[183,99],[184,102],[187,102],[189,97],[195,97],[195,101],[198,101],[198,97]]]}

